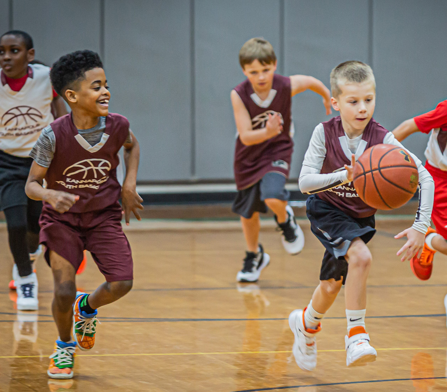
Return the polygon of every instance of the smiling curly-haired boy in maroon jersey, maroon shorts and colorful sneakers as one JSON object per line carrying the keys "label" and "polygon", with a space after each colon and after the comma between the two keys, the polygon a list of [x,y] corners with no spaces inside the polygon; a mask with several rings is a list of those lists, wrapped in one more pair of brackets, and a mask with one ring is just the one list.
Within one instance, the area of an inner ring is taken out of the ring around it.
{"label": "smiling curly-haired boy in maroon jersey, maroon shorts and colorful sneakers", "polygon": [[[141,219],[137,209],[143,209],[143,200],[135,190],[139,144],[127,118],[109,113],[110,92],[99,56],[70,53],[53,64],[50,75],[72,113],[42,131],[31,152],[34,162],[25,190],[33,200],[43,200],[40,242],[53,271],[53,316],[59,331],[47,373],[57,379],[73,377],[76,344],[81,350],[93,348],[97,308],[131,290],[131,248],[120,221],[122,210],[127,224],[131,211]],[[122,146],[127,170],[121,187],[116,168]],[[106,279],[90,295],[76,292],[84,249]]]}

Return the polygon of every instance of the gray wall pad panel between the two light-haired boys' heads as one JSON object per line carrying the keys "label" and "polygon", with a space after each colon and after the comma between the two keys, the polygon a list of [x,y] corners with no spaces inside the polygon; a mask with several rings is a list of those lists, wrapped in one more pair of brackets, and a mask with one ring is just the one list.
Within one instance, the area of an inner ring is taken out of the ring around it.
{"label": "gray wall pad panel between the two light-haired boys' heads", "polygon": [[[337,64],[352,59],[368,61],[368,1],[343,0],[342,8],[339,4],[286,1],[284,75],[311,75],[330,88],[329,74]],[[292,115],[295,150],[290,175],[297,178],[313,129],[332,116],[325,115],[320,96],[310,91],[292,98]]]}

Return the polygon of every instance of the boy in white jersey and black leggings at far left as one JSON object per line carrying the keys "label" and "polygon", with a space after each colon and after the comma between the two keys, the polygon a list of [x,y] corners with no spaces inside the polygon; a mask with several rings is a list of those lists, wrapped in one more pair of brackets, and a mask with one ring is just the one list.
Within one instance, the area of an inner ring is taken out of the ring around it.
{"label": "boy in white jersey and black leggings at far left", "polygon": [[[31,64],[34,45],[29,34],[12,30],[0,37],[0,208],[4,211],[14,258],[13,286],[17,309],[38,309],[38,282],[33,262],[40,254],[39,215],[42,202],[25,194],[31,148],[42,129],[67,113],[54,92],[50,68]],[[11,288],[13,288],[11,286]]]}

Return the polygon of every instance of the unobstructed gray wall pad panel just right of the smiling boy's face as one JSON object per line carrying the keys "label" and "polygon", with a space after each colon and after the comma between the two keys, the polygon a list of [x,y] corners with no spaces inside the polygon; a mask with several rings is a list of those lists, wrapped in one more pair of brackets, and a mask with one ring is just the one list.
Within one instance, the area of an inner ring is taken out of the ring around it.
{"label": "unobstructed gray wall pad panel just right of the smiling boy's face", "polygon": [[111,110],[141,145],[139,180],[190,178],[190,3],[105,1]]}

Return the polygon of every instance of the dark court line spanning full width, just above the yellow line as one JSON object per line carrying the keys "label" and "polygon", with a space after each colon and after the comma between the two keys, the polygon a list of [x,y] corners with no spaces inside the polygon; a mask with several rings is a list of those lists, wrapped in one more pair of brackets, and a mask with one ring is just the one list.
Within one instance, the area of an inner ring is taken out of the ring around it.
{"label": "dark court line spanning full width, just above the yellow line", "polygon": [[[0,315],[14,316],[16,313],[0,312]],[[52,317],[48,314],[37,314],[40,317]],[[437,314],[405,314],[405,315],[385,315],[385,316],[366,316],[367,319],[388,319],[388,318],[411,318],[411,317],[445,317],[445,313]],[[346,317],[325,317],[328,320],[345,320]],[[287,317],[265,317],[265,318],[169,318],[169,317],[101,317],[101,322],[116,323],[165,323],[165,322],[197,322],[197,321],[278,321],[287,320]],[[0,320],[2,323],[13,322],[16,320]],[[35,322],[46,323],[52,320],[36,320]]]}

